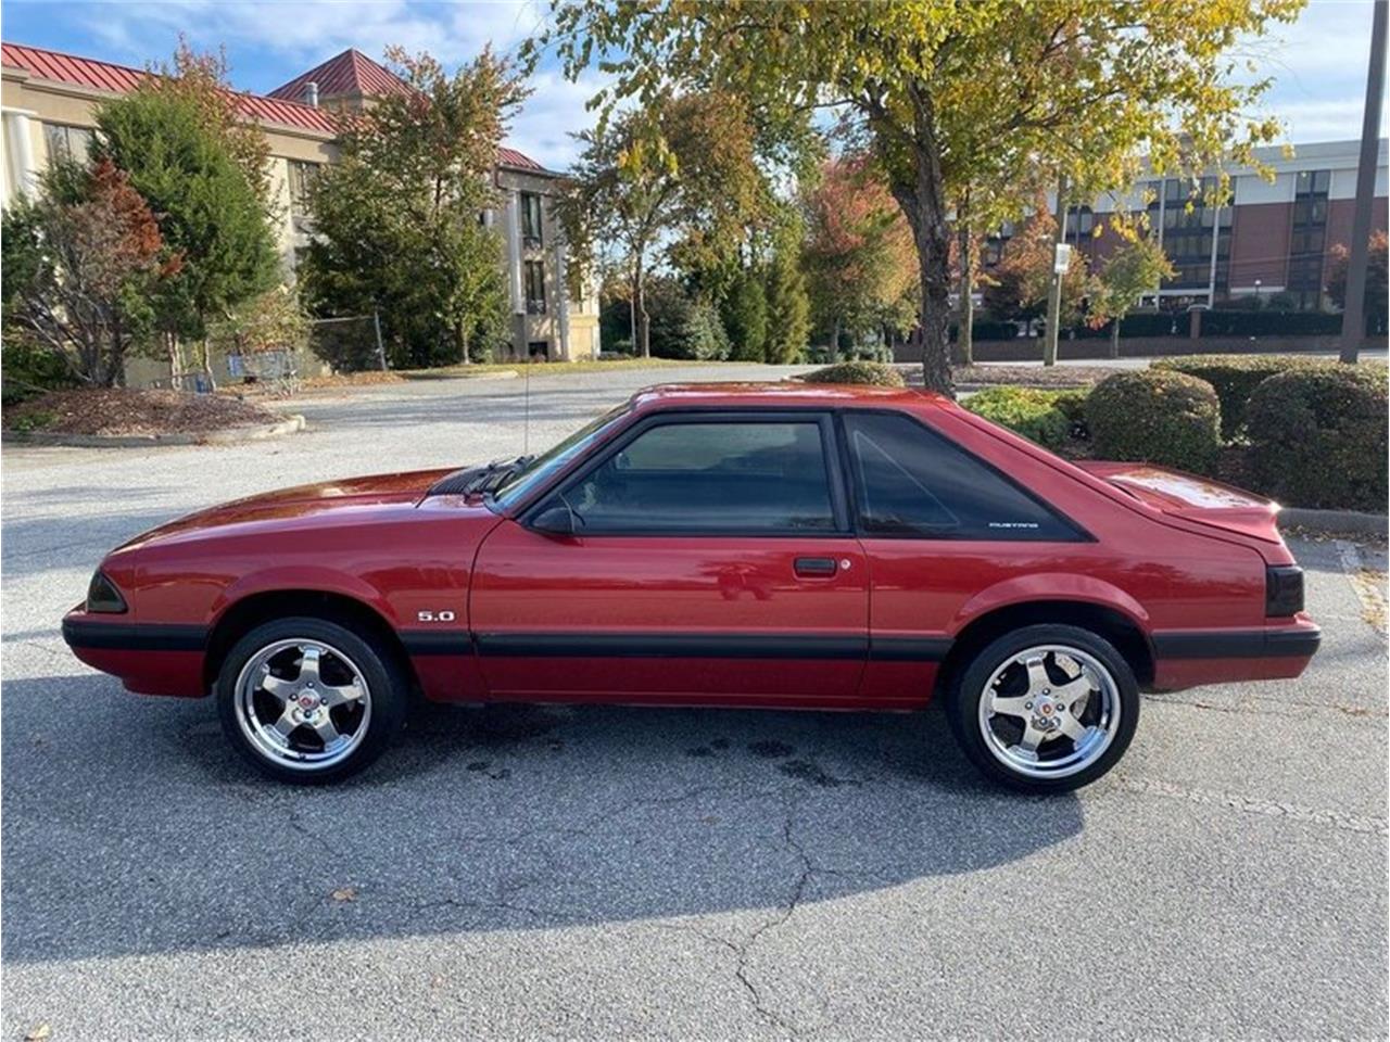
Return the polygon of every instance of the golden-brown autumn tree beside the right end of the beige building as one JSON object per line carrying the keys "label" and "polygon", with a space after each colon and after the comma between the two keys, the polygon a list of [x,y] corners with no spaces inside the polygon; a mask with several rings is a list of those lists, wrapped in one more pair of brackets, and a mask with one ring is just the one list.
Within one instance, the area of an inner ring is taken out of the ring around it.
{"label": "golden-brown autumn tree beside the right end of the beige building", "polygon": [[621,253],[637,354],[651,354],[645,286],[653,264],[714,267],[766,206],[753,138],[744,104],[708,92],[653,97],[646,111],[580,135],[584,151],[562,217],[581,256],[594,245]]}

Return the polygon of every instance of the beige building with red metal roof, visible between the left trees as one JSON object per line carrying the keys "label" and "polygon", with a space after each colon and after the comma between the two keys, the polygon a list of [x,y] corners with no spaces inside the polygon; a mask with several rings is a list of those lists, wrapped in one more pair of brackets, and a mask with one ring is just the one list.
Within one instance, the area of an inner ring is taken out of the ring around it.
{"label": "beige building with red metal roof, visible between the left trees", "polygon": [[[33,192],[51,156],[83,156],[96,129],[96,107],[133,89],[143,69],[58,51],[4,43],[0,47],[0,113],[4,119],[4,203]],[[306,189],[317,168],[335,161],[335,113],[360,110],[384,93],[406,90],[386,68],[346,50],[296,76],[268,96],[240,94],[246,118],[270,143],[271,181],[282,214],[275,229],[286,282],[295,276],[296,253],[313,235]],[[596,289],[580,299],[566,290],[564,238],[553,217],[562,179],[514,149],[499,150],[495,171],[502,206],[481,214],[503,240],[512,303],[512,357],[574,361],[599,353]],[[234,370],[220,360],[218,377]],[[135,363],[132,383],[168,379],[168,367]]]}

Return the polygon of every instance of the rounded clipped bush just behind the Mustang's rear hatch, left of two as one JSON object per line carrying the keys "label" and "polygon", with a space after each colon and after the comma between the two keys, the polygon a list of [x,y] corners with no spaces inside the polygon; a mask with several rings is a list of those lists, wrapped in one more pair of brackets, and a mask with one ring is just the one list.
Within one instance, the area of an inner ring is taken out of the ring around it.
{"label": "rounded clipped bush just behind the Mustang's rear hatch, left of two", "polygon": [[1220,450],[1220,402],[1211,383],[1141,370],[1106,377],[1086,400],[1095,454],[1205,474]]}

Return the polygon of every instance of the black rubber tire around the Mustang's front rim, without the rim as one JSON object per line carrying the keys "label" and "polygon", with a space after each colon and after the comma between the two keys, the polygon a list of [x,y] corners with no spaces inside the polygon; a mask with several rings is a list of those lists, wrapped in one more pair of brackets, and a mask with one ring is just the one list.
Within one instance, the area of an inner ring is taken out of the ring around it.
{"label": "black rubber tire around the Mustang's front rim, without the rim", "polygon": [[[361,720],[364,734],[343,759],[325,766],[296,767],[278,763],[261,752],[243,729],[238,678],[253,657],[281,640],[321,642],[348,656],[361,674],[367,685],[370,716]],[[385,752],[404,721],[410,681],[399,653],[375,634],[352,629],[327,618],[299,615],[264,622],[238,640],[222,660],[214,690],[222,732],[247,763],[277,781],[324,785],[356,774]]]}

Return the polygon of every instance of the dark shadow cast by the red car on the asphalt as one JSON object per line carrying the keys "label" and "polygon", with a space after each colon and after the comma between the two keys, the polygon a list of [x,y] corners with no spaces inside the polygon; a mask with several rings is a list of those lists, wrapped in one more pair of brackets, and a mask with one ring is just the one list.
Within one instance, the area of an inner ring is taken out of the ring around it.
{"label": "dark shadow cast by the red car on the asphalt", "polygon": [[427,707],[357,778],[292,788],[206,699],[4,693],[7,961],[778,916],[1083,827],[977,779],[931,710]]}

